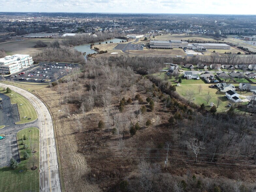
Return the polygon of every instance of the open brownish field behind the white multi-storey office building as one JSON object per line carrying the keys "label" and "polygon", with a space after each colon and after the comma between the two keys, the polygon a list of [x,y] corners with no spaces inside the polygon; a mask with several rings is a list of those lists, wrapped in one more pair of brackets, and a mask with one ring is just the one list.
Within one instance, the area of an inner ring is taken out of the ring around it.
{"label": "open brownish field behind the white multi-storey office building", "polygon": [[13,54],[29,54],[35,55],[44,48],[35,48],[37,41],[43,41],[47,45],[56,39],[25,39],[22,41],[13,41],[7,43],[0,43],[0,49],[4,49],[8,55]]}

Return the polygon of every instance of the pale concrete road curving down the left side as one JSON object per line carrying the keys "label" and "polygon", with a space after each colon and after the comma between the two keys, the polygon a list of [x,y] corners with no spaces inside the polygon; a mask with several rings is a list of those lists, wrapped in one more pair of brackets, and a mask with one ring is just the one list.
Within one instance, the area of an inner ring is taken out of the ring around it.
{"label": "pale concrete road curving down the left side", "polygon": [[35,107],[40,128],[40,191],[60,192],[60,178],[53,130],[53,121],[47,107],[32,93],[11,85],[0,83],[27,98]]}

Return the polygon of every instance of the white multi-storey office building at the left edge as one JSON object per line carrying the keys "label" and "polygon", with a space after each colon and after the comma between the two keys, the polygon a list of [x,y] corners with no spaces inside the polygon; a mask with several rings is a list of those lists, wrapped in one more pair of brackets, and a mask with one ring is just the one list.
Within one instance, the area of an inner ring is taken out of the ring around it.
{"label": "white multi-storey office building at the left edge", "polygon": [[0,58],[0,73],[12,74],[34,63],[29,55],[16,54]]}

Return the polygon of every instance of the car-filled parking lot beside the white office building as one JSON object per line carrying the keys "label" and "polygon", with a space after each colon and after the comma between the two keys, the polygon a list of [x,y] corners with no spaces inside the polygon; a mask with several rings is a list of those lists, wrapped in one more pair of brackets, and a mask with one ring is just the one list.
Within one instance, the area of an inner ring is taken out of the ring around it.
{"label": "car-filled parking lot beside the white office building", "polygon": [[32,65],[20,72],[14,73],[6,77],[11,81],[27,81],[27,82],[54,82],[68,73],[72,72],[78,64],[56,63],[56,62],[40,62],[38,65]]}

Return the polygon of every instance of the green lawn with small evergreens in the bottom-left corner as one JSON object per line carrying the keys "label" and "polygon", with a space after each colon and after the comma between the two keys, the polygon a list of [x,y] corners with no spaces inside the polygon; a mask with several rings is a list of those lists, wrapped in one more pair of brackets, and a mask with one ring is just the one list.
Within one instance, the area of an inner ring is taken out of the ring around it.
{"label": "green lawn with small evergreens in the bottom-left corner", "polygon": [[[28,138],[29,136],[31,137],[32,146],[34,146],[35,151],[37,151],[34,153],[36,160],[35,165],[38,167],[36,170],[31,170],[33,166],[31,163],[33,155],[29,139],[24,141],[28,149],[24,150],[23,145],[21,145],[23,135],[26,135]],[[17,133],[17,139],[21,163],[15,170],[12,170],[10,167],[0,168],[0,191],[39,191],[39,129],[36,127],[23,129]],[[30,156],[28,160],[24,160],[23,158],[24,151],[28,152]],[[23,172],[19,172],[20,170],[23,170]]]}

